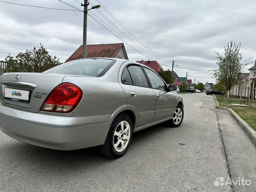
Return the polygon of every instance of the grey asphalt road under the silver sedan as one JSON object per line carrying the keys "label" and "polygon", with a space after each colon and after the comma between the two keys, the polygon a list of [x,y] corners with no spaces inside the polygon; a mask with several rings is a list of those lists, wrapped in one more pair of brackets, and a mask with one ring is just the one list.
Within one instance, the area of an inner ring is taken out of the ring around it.
{"label": "grey asphalt road under the silver sedan", "polygon": [[[246,135],[215,109],[213,96],[182,97],[179,128],[159,124],[134,133],[126,155],[117,160],[97,147],[49,150],[0,132],[0,191],[256,191],[256,149]],[[216,178],[225,183],[229,176],[250,179],[251,185],[214,186]]]}

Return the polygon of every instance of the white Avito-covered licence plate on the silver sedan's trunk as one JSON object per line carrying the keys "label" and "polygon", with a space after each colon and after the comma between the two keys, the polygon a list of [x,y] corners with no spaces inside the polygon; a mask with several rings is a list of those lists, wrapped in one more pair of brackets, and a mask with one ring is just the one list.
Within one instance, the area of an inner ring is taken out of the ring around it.
{"label": "white Avito-covered licence plate on the silver sedan's trunk", "polygon": [[4,99],[29,103],[30,90],[4,88]]}

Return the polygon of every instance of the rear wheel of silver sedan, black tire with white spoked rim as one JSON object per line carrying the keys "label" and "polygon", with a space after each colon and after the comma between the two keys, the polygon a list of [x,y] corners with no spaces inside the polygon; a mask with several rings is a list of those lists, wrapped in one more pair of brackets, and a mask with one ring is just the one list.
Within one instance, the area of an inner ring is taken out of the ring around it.
{"label": "rear wheel of silver sedan, black tire with white spoked rim", "polygon": [[123,156],[132,140],[132,133],[133,125],[130,117],[126,114],[119,114],[112,122],[106,141],[100,146],[100,151],[113,159]]}

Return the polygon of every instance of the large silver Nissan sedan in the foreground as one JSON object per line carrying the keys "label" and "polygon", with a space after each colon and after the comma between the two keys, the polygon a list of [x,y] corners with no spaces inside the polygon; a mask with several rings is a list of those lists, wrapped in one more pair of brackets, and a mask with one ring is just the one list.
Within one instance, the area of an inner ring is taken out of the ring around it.
{"label": "large silver Nissan sedan in the foreground", "polygon": [[133,132],[166,121],[178,127],[184,117],[177,86],[130,60],[85,58],[43,73],[5,73],[0,86],[0,130],[55,150],[100,146],[119,158]]}

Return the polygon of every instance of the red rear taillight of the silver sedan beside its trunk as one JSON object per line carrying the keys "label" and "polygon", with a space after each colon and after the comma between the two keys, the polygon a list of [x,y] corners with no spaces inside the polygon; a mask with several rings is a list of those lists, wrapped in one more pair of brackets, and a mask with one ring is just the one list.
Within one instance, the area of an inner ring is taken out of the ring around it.
{"label": "red rear taillight of the silver sedan beside its trunk", "polygon": [[71,83],[58,85],[46,98],[40,110],[68,113],[82,98],[82,90]]}

